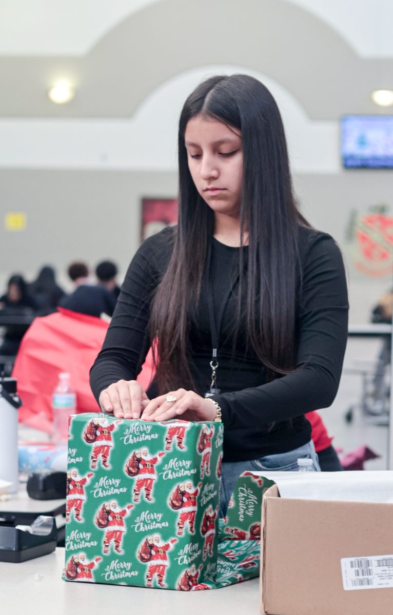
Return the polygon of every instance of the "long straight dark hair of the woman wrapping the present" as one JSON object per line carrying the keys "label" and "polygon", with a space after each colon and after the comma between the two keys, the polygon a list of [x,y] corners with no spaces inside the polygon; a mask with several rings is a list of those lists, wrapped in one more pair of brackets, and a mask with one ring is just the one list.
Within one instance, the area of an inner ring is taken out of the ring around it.
{"label": "long straight dark hair of the woman wrapping the present", "polygon": [[[190,313],[198,302],[213,236],[214,213],[188,170],[184,133],[199,114],[241,131],[243,186],[240,240],[248,231],[248,266],[240,244],[238,322],[269,379],[294,368],[299,226],[309,226],[294,200],[280,111],[269,90],[247,75],[207,79],[185,101],[179,122],[179,221],[168,269],[157,289],[150,335],[157,339],[156,381],[161,392],[193,386],[188,349]],[[241,297],[245,306],[241,307]],[[237,335],[237,332],[234,332]]]}

